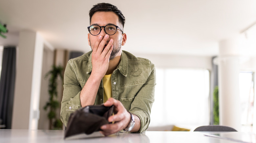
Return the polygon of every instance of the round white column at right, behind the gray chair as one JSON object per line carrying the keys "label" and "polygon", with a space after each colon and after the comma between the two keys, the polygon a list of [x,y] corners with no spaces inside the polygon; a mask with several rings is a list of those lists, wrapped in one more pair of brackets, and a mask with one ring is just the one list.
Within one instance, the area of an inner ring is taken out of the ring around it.
{"label": "round white column at right, behind the gray chair", "polygon": [[220,125],[241,130],[239,96],[239,46],[240,37],[219,43],[219,116]]}

